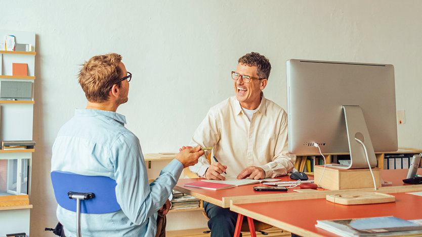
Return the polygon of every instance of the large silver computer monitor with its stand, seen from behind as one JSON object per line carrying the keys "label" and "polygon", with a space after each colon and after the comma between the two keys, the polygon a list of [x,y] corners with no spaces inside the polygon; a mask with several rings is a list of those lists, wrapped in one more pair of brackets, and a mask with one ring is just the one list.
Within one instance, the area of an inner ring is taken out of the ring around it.
{"label": "large silver computer monitor with its stand, seen from behind", "polygon": [[[287,61],[288,148],[293,154],[350,153],[376,166],[376,151],[397,151],[393,65]],[[345,115],[346,114],[346,115]]]}

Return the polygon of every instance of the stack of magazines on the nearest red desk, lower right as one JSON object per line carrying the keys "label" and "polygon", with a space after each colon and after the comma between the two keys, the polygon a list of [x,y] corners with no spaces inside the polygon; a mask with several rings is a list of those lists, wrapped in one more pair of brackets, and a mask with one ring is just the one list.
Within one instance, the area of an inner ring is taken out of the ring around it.
{"label": "stack of magazines on the nearest red desk, lower right", "polygon": [[317,220],[315,226],[341,236],[407,236],[422,234],[422,225],[394,216]]}

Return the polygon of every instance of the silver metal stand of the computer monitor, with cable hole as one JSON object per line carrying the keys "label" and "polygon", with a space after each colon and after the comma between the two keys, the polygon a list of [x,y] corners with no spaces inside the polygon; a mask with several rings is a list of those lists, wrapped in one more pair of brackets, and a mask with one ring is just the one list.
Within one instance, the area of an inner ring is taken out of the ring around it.
{"label": "silver metal stand of the computer monitor, with cable hole", "polygon": [[[369,137],[368,128],[366,127],[365,118],[362,109],[357,105],[343,105],[345,113],[347,138],[350,150],[350,165],[344,166],[345,169],[368,168],[365,150],[363,146],[355,140],[355,138],[365,144],[368,152],[368,159],[371,167],[376,167],[376,157],[373,151],[371,139]],[[337,166],[338,167],[338,166]]]}

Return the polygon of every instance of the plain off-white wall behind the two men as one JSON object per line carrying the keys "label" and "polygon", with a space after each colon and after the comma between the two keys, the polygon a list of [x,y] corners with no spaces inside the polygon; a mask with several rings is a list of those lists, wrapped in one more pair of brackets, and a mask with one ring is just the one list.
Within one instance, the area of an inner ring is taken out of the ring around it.
{"label": "plain off-white wall behind the two men", "polygon": [[393,64],[397,109],[406,110],[399,146],[422,148],[421,9],[418,0],[2,1],[1,28],[36,33],[31,235],[56,223],[51,147],[86,106],[76,74],[91,56],[120,53],[133,73],[117,112],[144,153],[187,144],[208,108],[233,95],[230,71],[250,51],[269,57],[265,95],[283,107],[289,58]]}

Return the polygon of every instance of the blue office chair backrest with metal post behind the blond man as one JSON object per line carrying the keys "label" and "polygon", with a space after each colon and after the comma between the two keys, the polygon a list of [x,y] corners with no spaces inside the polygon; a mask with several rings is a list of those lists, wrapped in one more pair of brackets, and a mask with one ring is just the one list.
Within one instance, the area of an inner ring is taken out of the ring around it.
{"label": "blue office chair backrest with metal post behind the blond man", "polygon": [[51,181],[57,203],[66,210],[76,212],[78,237],[80,213],[103,214],[121,209],[116,199],[116,181],[110,177],[52,171]]}

